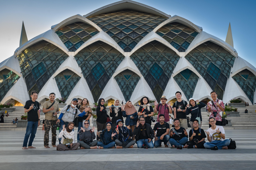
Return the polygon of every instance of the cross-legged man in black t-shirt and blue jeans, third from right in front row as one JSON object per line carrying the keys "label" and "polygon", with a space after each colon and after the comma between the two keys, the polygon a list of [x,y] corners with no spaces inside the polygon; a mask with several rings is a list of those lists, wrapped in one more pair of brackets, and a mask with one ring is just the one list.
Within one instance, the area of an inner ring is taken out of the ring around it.
{"label": "cross-legged man in black t-shirt and blue jeans, third from right in front row", "polygon": [[170,131],[170,144],[172,147],[182,146],[188,141],[188,132],[185,128],[180,127],[180,119],[176,118],[173,120],[174,128]]}

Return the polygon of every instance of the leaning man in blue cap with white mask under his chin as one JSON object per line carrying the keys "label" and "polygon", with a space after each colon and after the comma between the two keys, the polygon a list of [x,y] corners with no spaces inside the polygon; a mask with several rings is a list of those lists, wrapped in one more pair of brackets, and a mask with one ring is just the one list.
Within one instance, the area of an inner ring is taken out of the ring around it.
{"label": "leaning man in blue cap with white mask under his chin", "polygon": [[[71,105],[66,105],[62,109],[60,116],[56,122],[56,123],[60,123],[60,132],[63,129],[63,125],[67,127],[68,123],[73,122],[76,116],[83,117],[85,115],[86,113],[85,111],[81,113],[79,109],[77,109],[76,107],[77,103],[78,103],[78,100],[76,98],[73,98]],[[74,131],[74,128],[72,129],[72,131]]]}

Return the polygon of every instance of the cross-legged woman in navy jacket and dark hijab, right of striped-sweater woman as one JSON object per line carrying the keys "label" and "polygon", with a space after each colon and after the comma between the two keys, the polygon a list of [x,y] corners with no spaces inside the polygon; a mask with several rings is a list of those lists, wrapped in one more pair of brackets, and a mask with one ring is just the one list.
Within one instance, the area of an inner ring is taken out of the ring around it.
{"label": "cross-legged woman in navy jacket and dark hijab, right of striped-sweater woman", "polygon": [[112,123],[108,122],[107,128],[102,130],[101,133],[99,133],[100,131],[97,132],[97,135],[101,140],[97,142],[99,149],[115,148],[115,145],[116,145],[115,136],[117,133],[115,131],[113,132],[111,128],[112,128]]}

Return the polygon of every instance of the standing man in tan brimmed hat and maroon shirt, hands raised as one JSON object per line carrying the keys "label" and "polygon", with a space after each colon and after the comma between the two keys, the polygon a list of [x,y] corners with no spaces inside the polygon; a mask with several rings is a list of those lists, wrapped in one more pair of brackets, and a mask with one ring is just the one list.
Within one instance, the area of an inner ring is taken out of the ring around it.
{"label": "standing man in tan brimmed hat and maroon shirt, hands raised", "polygon": [[154,113],[158,112],[157,121],[160,122],[159,115],[163,114],[164,121],[170,125],[169,113],[170,114],[172,113],[171,104],[166,103],[166,101],[167,101],[166,96],[162,96],[160,101],[161,101],[160,104],[158,104],[157,101],[154,102],[154,104],[155,104]]}

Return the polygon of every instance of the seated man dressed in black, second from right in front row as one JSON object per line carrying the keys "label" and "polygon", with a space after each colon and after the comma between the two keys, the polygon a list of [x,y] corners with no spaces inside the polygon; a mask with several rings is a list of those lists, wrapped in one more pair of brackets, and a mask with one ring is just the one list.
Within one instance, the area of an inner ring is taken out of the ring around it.
{"label": "seated man dressed in black, second from right in front row", "polygon": [[[184,148],[204,148],[204,140],[206,138],[204,130],[198,127],[199,121],[196,119],[193,120],[193,126],[193,132],[192,129],[189,131],[189,141],[187,142],[187,145],[184,146]],[[196,142],[195,139],[197,139],[198,142]]]}

